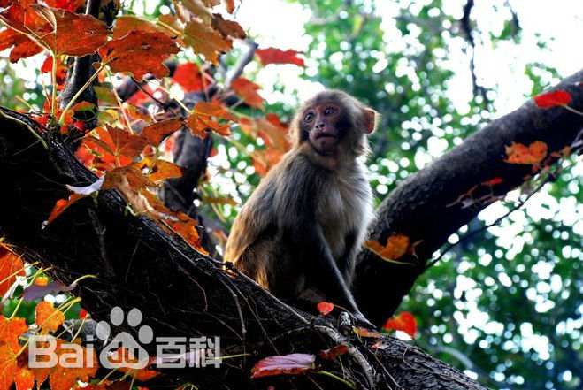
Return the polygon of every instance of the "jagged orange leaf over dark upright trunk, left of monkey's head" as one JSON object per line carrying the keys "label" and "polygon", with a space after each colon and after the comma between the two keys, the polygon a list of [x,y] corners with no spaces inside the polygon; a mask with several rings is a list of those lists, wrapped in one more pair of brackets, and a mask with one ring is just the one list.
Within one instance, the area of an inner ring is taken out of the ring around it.
{"label": "jagged orange leaf over dark upright trunk, left of monkey's head", "polygon": [[214,130],[223,136],[231,134],[228,123],[221,125],[216,120],[212,120],[211,117],[236,119],[233,114],[217,103],[197,102],[192,113],[185,119],[185,124],[190,129],[190,133],[201,138],[208,135],[207,130]]}

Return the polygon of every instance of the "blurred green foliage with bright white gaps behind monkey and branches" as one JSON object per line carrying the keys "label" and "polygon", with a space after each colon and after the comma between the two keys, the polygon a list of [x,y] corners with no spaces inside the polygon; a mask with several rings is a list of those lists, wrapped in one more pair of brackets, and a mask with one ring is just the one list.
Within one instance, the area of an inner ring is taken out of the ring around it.
{"label": "blurred green foliage with bright white gaps behind monkey and branches", "polygon": [[[560,33],[557,26],[583,19],[576,2],[556,2],[553,9],[543,5],[546,8],[541,12],[548,12],[549,20],[548,27],[540,26],[541,34],[533,30],[536,18],[525,3],[534,8],[542,2],[477,2],[467,25],[473,49],[460,23],[463,1],[272,3],[243,0],[235,19],[249,27],[260,47],[305,51],[307,66],[263,68],[253,62],[245,76],[262,86],[261,93],[270,103],[267,111],[282,118],[289,117],[298,100],[322,87],[344,89],[380,111],[382,123],[372,138],[369,159],[379,203],[433,157],[583,64],[576,57],[561,57],[560,44],[556,44],[565,42],[562,34],[572,34],[568,28]],[[169,6],[166,1],[124,4],[152,15],[165,13]],[[266,8],[280,9],[280,14]],[[285,15],[288,20],[283,20]],[[295,30],[282,39],[290,23]],[[274,32],[278,29],[283,31]],[[575,51],[578,46],[568,49]],[[242,50],[230,53],[226,65],[233,64]],[[470,73],[472,53],[476,88],[472,88]],[[195,59],[181,56],[182,60]],[[0,58],[0,104],[24,109],[15,97],[20,96],[42,107],[38,71],[42,59],[8,65],[7,59]],[[249,110],[249,114],[260,112]],[[248,151],[263,148],[261,139],[251,140],[241,132],[235,131],[234,139]],[[202,190],[242,203],[260,178],[249,154],[224,141],[218,143],[209,168],[211,180]],[[487,386],[580,388],[582,173],[580,157],[572,157],[564,163],[558,180],[546,185],[522,210],[441,254],[400,308],[418,320],[418,345]],[[518,195],[519,190],[509,195],[508,202],[481,212],[450,242],[455,244],[464,233],[491,224],[512,207]],[[226,227],[237,211],[228,204],[214,209],[203,204],[202,209],[215,219],[219,212]],[[382,304],[382,296],[378,299]],[[27,307],[20,310],[27,317]],[[11,309],[4,307],[4,311]]]}

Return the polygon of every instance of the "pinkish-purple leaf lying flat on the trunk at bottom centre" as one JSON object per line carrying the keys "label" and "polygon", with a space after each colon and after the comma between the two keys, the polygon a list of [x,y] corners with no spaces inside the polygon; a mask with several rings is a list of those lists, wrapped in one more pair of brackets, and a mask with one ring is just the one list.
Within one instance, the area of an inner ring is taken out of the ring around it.
{"label": "pinkish-purple leaf lying flat on the trunk at bottom centre", "polygon": [[309,354],[290,354],[269,356],[261,359],[251,369],[251,378],[268,377],[280,374],[301,374],[314,371],[316,356]]}

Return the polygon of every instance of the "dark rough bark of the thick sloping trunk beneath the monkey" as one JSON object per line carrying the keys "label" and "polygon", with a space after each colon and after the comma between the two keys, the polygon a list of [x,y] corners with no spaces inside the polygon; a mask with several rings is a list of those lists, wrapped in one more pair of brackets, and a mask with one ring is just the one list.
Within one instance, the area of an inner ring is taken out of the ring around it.
{"label": "dark rough bark of the thick sloping trunk beneath the monkey", "polygon": [[[460,371],[403,341],[382,336],[358,338],[331,317],[311,317],[278,301],[253,281],[202,256],[179,237],[148,218],[134,217],[115,191],[104,191],[96,203],[74,203],[42,228],[65,184],[88,185],[96,176],[85,169],[57,138],[42,148],[31,130],[35,122],[18,113],[0,112],[0,233],[27,261],[53,267],[50,276],[64,284],[96,274],[75,288],[82,305],[96,320],[108,319],[113,306],[142,310],[143,324],[158,336],[220,336],[221,355],[247,353],[225,360],[219,369],[165,371],[158,385],[185,381],[198,388],[332,388],[341,385],[317,373],[249,379],[253,363],[265,356],[304,352],[338,344],[349,346],[339,360],[320,361],[322,368],[346,378],[357,388],[482,389]],[[12,117],[9,119],[7,117]],[[27,128],[29,126],[30,128]],[[54,137],[58,137],[55,134]],[[136,336],[122,324],[113,329]],[[153,345],[144,346],[152,351]]]}

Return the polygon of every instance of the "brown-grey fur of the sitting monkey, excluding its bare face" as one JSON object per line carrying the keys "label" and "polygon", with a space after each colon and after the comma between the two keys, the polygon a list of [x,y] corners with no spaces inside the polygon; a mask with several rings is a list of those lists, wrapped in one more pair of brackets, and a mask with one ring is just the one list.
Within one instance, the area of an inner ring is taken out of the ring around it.
{"label": "brown-grey fur of the sitting monkey, excluding its bare face", "polygon": [[[353,124],[330,155],[319,154],[302,134],[303,112],[322,102],[341,105]],[[225,260],[276,296],[294,300],[305,288],[318,287],[303,269],[310,264],[302,265],[286,247],[293,240],[287,234],[298,228],[301,233],[306,218],[315,218],[315,232],[326,241],[323,253],[334,258],[348,286],[352,281],[356,252],[372,215],[372,193],[359,158],[368,151],[364,110],[370,109],[338,90],[324,91],[303,103],[290,129],[292,149],[234,219]],[[352,244],[347,242],[350,234]]]}

